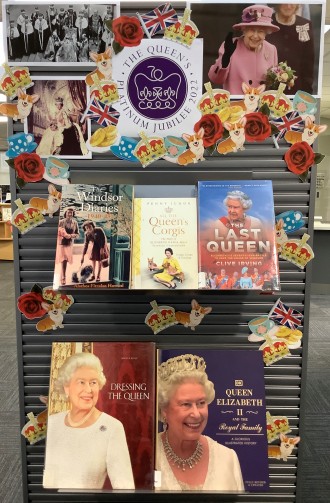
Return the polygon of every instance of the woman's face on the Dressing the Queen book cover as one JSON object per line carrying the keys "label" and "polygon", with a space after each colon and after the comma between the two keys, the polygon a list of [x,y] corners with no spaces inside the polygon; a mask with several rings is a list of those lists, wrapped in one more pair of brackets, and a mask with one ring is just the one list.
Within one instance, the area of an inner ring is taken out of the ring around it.
{"label": "woman's face on the Dressing the Queen book cover", "polygon": [[72,409],[90,410],[97,403],[100,391],[98,372],[92,367],[79,367],[64,391],[69,395]]}

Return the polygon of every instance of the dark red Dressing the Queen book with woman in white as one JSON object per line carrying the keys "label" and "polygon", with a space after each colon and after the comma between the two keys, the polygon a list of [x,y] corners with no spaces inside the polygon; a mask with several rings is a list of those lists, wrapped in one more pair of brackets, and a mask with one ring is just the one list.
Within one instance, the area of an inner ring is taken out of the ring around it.
{"label": "dark red Dressing the Queen book with woman in white", "polygon": [[54,342],[43,485],[152,489],[155,345]]}

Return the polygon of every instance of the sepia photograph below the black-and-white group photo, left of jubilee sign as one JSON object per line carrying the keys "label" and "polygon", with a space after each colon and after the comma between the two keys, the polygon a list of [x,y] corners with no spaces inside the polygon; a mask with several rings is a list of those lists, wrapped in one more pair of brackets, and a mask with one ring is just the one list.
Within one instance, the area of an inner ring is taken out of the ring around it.
{"label": "sepia photograph below the black-and-white group photo, left of jubilee sign", "polygon": [[37,94],[25,122],[25,132],[34,135],[40,157],[56,156],[67,159],[91,158],[86,147],[90,137],[90,121],[84,119],[87,106],[87,85],[81,77],[35,77],[28,93]]}

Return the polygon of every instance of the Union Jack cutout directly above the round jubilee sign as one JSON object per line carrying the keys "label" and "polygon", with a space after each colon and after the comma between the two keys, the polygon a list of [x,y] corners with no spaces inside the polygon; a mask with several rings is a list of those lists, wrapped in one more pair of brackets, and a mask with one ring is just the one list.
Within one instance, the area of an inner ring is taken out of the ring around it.
{"label": "Union Jack cutout directly above the round jubilee sign", "polygon": [[176,10],[173,9],[170,3],[165,3],[156,7],[147,14],[136,13],[144,33],[148,38],[153,37],[156,33],[165,30],[172,24],[178,21]]}

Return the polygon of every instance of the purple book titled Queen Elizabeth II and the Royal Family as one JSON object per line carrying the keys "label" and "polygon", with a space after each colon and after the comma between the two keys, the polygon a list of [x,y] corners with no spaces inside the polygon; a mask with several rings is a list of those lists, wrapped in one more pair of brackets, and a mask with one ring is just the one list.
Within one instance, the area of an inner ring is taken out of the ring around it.
{"label": "purple book titled Queen Elizabeth II and the Royal Family", "polygon": [[[173,455],[176,437],[181,435],[181,441],[199,440],[202,446],[208,446],[191,469],[194,480],[200,482],[200,489],[267,491],[267,428],[261,352],[185,347],[159,350],[158,360],[163,363],[162,368],[158,368],[158,408],[164,405],[163,410],[159,410],[159,420],[164,421],[165,416],[169,442],[169,446],[164,442],[164,433],[158,435],[156,467],[163,470],[158,478],[165,486],[160,482],[159,487],[173,489],[177,483],[182,486],[184,475],[181,469],[177,470]],[[205,373],[207,378],[203,376]],[[174,394],[171,384],[174,384]],[[166,401],[168,390],[170,399]],[[207,471],[200,477],[203,455],[207,453]],[[166,487],[168,485],[172,487]]]}

